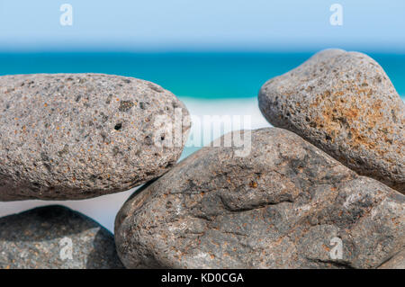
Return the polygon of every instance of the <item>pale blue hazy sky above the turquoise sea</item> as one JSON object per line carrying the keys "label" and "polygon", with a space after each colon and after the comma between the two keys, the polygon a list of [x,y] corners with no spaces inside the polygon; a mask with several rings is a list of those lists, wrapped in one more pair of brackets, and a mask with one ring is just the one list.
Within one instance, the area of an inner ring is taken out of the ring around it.
{"label": "pale blue hazy sky above the turquoise sea", "polygon": [[[73,6],[62,26],[61,4]],[[332,26],[331,4],[343,6]],[[405,53],[405,1],[0,0],[0,50],[313,50]]]}

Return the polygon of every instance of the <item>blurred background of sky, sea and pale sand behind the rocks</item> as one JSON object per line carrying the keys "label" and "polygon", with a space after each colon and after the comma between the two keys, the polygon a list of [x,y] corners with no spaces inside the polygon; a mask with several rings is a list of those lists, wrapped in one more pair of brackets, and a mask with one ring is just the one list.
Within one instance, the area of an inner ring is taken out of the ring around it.
{"label": "blurred background of sky, sea and pale sand behind the rocks", "polygon": [[[249,115],[257,129],[269,126],[260,86],[320,49],[368,54],[404,99],[404,31],[403,0],[0,0],[0,76],[134,76],[170,90],[193,115]],[[58,203],[112,230],[132,192]],[[0,202],[0,216],[50,203]]]}

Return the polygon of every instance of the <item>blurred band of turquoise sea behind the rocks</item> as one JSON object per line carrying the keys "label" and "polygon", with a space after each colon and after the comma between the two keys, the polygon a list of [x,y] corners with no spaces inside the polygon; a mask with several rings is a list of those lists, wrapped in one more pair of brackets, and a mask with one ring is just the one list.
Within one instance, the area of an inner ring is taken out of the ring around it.
{"label": "blurred band of turquoise sea behind the rocks", "polygon": [[[312,53],[43,52],[0,53],[0,75],[105,73],[155,82],[178,96],[204,99],[257,96],[267,79],[300,65]],[[369,54],[405,95],[405,54]]]}

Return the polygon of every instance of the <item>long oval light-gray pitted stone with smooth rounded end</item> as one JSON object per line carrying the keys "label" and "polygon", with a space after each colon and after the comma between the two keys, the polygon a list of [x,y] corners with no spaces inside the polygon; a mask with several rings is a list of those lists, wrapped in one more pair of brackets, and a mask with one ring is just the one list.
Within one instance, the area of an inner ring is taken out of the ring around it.
{"label": "long oval light-gray pitted stone with smooth rounded end", "polygon": [[173,166],[189,130],[174,94],[125,76],[0,76],[0,111],[0,201],[128,190]]}

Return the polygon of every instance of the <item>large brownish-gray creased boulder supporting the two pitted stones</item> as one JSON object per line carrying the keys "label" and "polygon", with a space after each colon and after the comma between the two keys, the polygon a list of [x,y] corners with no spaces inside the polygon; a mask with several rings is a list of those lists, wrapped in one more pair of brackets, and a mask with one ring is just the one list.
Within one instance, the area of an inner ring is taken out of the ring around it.
{"label": "large brownish-gray creased boulder supporting the two pitted stones", "polygon": [[251,150],[235,157],[233,148],[202,148],[134,193],[115,220],[121,262],[374,268],[403,249],[401,193],[288,130],[254,130]]}

